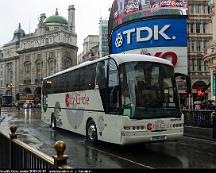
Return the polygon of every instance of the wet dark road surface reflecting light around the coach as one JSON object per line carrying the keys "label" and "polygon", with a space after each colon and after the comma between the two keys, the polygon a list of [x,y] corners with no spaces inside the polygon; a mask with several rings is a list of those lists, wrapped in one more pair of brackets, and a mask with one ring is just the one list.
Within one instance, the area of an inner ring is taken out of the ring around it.
{"label": "wet dark road surface reflecting light around the coach", "polygon": [[216,142],[183,137],[177,142],[91,145],[84,136],[52,130],[40,120],[39,109],[7,108],[1,116],[1,131],[9,134],[8,126],[15,124],[20,140],[50,156],[56,154],[55,142],[63,140],[73,168],[216,168]]}

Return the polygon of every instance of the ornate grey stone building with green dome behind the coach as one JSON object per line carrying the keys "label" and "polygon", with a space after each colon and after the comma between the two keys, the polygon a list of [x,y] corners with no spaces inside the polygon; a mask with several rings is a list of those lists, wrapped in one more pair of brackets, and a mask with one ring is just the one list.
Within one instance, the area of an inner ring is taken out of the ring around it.
{"label": "ornate grey stone building with green dome behind the coach", "polygon": [[42,13],[34,33],[26,35],[19,25],[2,49],[2,95],[12,94],[13,103],[20,96],[40,97],[42,78],[76,65],[77,51],[74,5],[68,20],[57,9],[50,17]]}

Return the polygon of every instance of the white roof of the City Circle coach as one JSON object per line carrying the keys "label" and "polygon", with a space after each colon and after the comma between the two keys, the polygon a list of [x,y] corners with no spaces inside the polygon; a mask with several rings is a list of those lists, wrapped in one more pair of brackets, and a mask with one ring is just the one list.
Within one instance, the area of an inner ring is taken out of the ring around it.
{"label": "white roof of the City Circle coach", "polygon": [[76,66],[70,67],[70,68],[68,68],[66,70],[57,72],[57,73],[55,73],[55,74],[53,74],[51,76],[45,77],[44,80],[49,79],[49,78],[54,77],[54,76],[58,76],[60,74],[66,73],[66,72],[69,72],[71,70],[78,69],[80,67],[87,66],[89,64],[94,64],[94,63],[96,63],[98,61],[105,60],[105,59],[108,59],[108,58],[113,58],[116,61],[117,65],[120,65],[120,64],[123,64],[123,63],[126,63],[126,62],[149,61],[149,62],[158,62],[158,63],[167,64],[167,65],[173,66],[172,63],[170,61],[168,61],[168,60],[165,60],[165,59],[162,59],[162,58],[158,58],[158,57],[155,57],[155,56],[150,56],[150,55],[141,55],[141,54],[110,54],[110,55],[107,55],[105,57],[102,57],[102,58],[99,58],[99,59],[96,59],[96,60],[93,60],[93,61],[86,61],[86,62],[83,62],[83,63],[78,64]]}

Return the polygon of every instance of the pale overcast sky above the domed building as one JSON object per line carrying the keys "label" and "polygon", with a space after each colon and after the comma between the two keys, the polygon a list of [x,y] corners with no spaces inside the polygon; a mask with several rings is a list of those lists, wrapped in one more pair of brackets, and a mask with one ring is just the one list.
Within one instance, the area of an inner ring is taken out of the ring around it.
{"label": "pale overcast sky above the domed building", "polygon": [[0,0],[0,47],[13,38],[19,22],[25,33],[34,32],[41,13],[46,17],[55,14],[68,18],[68,6],[75,5],[78,47],[82,50],[83,39],[98,34],[100,17],[109,17],[108,9],[114,0]]}

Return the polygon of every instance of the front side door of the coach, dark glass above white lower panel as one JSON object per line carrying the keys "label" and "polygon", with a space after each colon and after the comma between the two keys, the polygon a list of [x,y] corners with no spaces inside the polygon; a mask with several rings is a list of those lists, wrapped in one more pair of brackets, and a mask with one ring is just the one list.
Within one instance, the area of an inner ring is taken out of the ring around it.
{"label": "front side door of the coach, dark glass above white lower panel", "polygon": [[[97,82],[106,115],[106,127],[101,132],[101,139],[119,143],[121,136],[121,118],[119,114],[119,77],[114,60],[101,61],[97,64]],[[100,129],[99,129],[100,131]]]}

